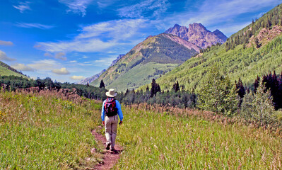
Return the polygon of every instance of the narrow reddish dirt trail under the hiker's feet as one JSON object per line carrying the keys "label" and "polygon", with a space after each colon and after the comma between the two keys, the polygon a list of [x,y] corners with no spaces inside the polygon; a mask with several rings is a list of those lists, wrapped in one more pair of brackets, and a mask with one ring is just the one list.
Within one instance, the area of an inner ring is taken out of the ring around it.
{"label": "narrow reddish dirt trail under the hiker's feet", "polygon": [[[102,128],[102,127],[99,127]],[[95,136],[95,139],[98,140],[98,142],[101,142],[106,147],[106,137],[105,135],[101,135],[96,130],[91,130],[92,135]],[[122,147],[116,143],[114,145],[114,149],[116,149],[115,152],[107,151],[105,149],[105,154],[103,157],[103,161],[101,164],[97,164],[94,169],[97,170],[105,170],[105,169],[112,169],[114,164],[117,163],[119,160],[119,154],[122,152]]]}

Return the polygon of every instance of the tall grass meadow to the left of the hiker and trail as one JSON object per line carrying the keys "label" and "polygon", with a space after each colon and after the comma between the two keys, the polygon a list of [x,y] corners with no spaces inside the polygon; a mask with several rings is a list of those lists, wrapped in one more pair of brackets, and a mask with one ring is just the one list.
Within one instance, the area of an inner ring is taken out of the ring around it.
{"label": "tall grass meadow to the left of the hiker and trail", "polygon": [[86,169],[101,161],[90,130],[101,103],[53,92],[0,92],[0,169]]}

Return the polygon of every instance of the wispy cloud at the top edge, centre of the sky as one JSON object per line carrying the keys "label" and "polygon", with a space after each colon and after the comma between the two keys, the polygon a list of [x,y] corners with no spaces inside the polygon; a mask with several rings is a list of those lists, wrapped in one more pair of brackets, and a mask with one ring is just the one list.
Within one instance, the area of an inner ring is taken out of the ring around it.
{"label": "wispy cloud at the top edge, centre of the sky", "polygon": [[132,6],[119,8],[119,16],[125,18],[142,18],[143,16],[159,16],[167,11],[170,3],[167,0],[146,0]]}

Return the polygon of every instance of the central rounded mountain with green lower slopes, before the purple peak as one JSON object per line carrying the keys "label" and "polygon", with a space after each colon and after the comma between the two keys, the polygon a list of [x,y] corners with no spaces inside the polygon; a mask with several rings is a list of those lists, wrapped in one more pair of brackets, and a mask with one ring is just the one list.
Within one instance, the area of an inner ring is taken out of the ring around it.
{"label": "central rounded mountain with green lower slopes, before the purple peak", "polygon": [[136,89],[196,55],[194,49],[199,50],[199,47],[175,35],[160,34],[147,38],[90,84],[99,86],[103,80],[106,88],[118,91]]}

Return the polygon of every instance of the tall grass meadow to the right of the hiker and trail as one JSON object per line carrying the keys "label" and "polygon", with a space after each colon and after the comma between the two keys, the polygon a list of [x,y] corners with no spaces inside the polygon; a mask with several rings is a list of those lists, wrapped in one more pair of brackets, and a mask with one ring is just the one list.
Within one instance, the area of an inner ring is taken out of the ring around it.
{"label": "tall grass meadow to the right of the hiker and trail", "polygon": [[125,151],[116,168],[282,169],[281,136],[232,120],[208,120],[207,113],[186,112],[124,108],[117,140]]}

